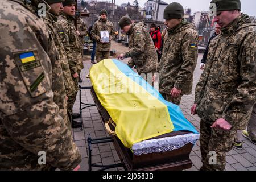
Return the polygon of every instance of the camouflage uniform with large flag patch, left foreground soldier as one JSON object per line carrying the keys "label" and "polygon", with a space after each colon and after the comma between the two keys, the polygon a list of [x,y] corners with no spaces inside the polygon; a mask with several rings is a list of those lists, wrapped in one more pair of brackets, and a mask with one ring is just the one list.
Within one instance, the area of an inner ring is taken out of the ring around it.
{"label": "camouflage uniform with large flag patch, left foreground soldier", "polygon": [[0,169],[71,170],[81,155],[52,101],[47,27],[22,0],[2,0],[0,9]]}

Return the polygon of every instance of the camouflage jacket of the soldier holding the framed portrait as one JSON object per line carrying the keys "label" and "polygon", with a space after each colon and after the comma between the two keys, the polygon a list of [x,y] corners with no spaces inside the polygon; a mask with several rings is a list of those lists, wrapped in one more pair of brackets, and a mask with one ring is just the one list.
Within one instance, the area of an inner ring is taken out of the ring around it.
{"label": "camouflage jacket of the soldier holding the framed portrait", "polygon": [[114,33],[113,27],[114,26],[112,22],[110,22],[108,19],[104,21],[101,19],[101,17],[99,17],[98,20],[93,24],[91,34],[92,34],[93,40],[97,41],[96,51],[110,51],[111,41],[110,43],[102,44],[100,39],[101,39],[101,31],[108,31],[109,38],[112,37],[112,40],[114,40],[115,33]]}

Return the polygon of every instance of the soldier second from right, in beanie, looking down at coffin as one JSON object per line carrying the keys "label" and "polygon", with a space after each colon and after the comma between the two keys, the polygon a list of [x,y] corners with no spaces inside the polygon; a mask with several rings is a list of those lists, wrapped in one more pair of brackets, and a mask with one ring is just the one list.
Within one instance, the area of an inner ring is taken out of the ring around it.
{"label": "soldier second from right, in beanie, looking down at coffin", "polygon": [[196,27],[183,16],[183,6],[177,2],[164,9],[167,32],[163,38],[162,59],[159,62],[159,92],[176,105],[180,105],[184,94],[192,93],[193,72],[198,56]]}

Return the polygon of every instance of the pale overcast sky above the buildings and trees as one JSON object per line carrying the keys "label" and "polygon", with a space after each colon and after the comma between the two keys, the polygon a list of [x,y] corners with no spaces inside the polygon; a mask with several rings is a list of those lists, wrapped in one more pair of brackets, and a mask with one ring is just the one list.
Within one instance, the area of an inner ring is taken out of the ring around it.
{"label": "pale overcast sky above the buildings and trees", "polygon": [[[110,1],[110,0],[109,0]],[[131,5],[133,5],[134,0],[115,0],[115,3],[117,5],[121,5],[122,3],[130,2]],[[147,2],[147,0],[138,0],[139,6],[143,7],[144,3]],[[162,0],[166,3],[171,2],[179,2],[181,5],[183,5],[184,8],[190,7],[192,12],[195,11],[209,11],[209,4],[210,0]],[[111,2],[111,1],[110,1]],[[256,1],[255,0],[241,0],[242,4],[242,12],[246,13],[250,16],[256,16]]]}

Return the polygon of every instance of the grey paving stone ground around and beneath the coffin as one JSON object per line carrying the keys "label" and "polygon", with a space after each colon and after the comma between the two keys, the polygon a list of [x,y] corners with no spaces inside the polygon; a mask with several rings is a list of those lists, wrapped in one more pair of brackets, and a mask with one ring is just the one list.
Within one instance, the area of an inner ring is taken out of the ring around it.
{"label": "grey paving stone ground around and beneath the coffin", "polygon": [[[127,47],[122,46],[121,44],[112,43],[112,49],[114,49],[117,53],[123,53],[127,50]],[[117,57],[117,55],[115,57]],[[197,61],[197,67],[194,74],[193,80],[193,90],[195,90],[195,86],[199,81],[200,75],[202,71],[199,69],[200,60],[203,55],[199,55],[199,59]],[[115,58],[110,57],[110,58]],[[128,59],[123,60],[124,63],[127,63]],[[81,86],[91,86],[90,80],[86,78],[86,75],[89,73],[89,69],[92,67],[90,63],[90,57],[84,57],[84,69],[81,72],[83,82],[80,84]],[[190,96],[184,96],[181,100],[180,107],[183,110],[185,117],[196,127],[199,131],[200,126],[200,118],[197,115],[191,115],[190,109],[193,105],[195,95],[192,93]],[[94,104],[92,96],[90,95],[90,90],[82,90],[81,100],[85,103]],[[79,95],[77,95],[76,103],[73,107],[74,113],[79,113]],[[88,144],[87,144],[87,135],[90,134],[92,138],[101,138],[101,137],[109,137],[108,133],[104,130],[104,126],[102,125],[100,114],[98,113],[97,108],[89,107],[82,111],[82,117],[84,121],[84,130],[73,129],[73,137],[77,146],[80,149],[82,155],[82,162],[80,164],[80,170],[88,170]],[[93,144],[92,150],[92,162],[94,164],[113,164],[119,163],[120,160],[118,158],[117,152],[112,143],[104,143],[104,144]],[[248,139],[243,138],[243,147],[244,149],[239,151],[236,149],[232,149],[228,152],[226,156],[227,171],[255,171],[256,170],[256,145],[252,144]],[[191,171],[197,171],[201,167],[201,154],[200,154],[200,143],[197,141],[196,145],[193,147],[193,150],[190,155],[190,159],[193,162],[193,166]],[[92,167],[92,170],[97,170],[98,168]],[[123,170],[122,167],[109,169],[109,171],[117,171]]]}

